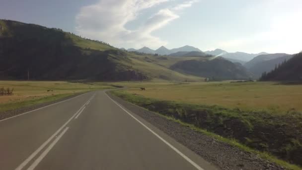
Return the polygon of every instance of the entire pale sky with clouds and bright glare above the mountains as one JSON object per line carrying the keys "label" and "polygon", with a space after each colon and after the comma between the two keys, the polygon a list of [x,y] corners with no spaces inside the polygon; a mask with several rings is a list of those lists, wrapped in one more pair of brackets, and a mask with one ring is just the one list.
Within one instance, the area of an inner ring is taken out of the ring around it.
{"label": "entire pale sky with clouds and bright glare above the mountains", "polygon": [[302,50],[302,0],[0,0],[0,18],[61,28],[115,47]]}

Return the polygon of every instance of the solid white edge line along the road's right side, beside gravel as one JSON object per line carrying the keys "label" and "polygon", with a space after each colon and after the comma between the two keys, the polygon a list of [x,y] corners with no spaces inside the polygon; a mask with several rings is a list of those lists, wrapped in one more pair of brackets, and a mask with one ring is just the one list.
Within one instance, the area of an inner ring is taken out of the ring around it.
{"label": "solid white edge line along the road's right side, beside gravel", "polygon": [[[104,92],[105,93],[105,92]],[[105,93],[106,94],[106,93]],[[107,94],[106,94],[107,95]],[[171,149],[173,149],[177,154],[179,154],[182,158],[184,158],[186,161],[188,161],[191,165],[193,165],[197,170],[204,170],[199,165],[197,165],[195,162],[193,162],[190,158],[185,156],[183,153],[181,153],[178,149],[176,149],[174,146],[172,146],[169,142],[164,140],[162,137],[160,137],[157,133],[155,133],[153,130],[151,130],[147,125],[145,125],[143,122],[141,122],[139,119],[134,117],[131,113],[129,113],[126,109],[124,109],[123,106],[121,106],[119,103],[114,101],[109,95],[107,95],[116,105],[118,105],[121,109],[123,109],[126,113],[128,113],[132,118],[134,118],[136,121],[138,121],[141,125],[143,125],[146,129],[148,129],[153,135],[155,135],[158,139],[160,139],[162,142],[164,142],[166,145],[168,145]]]}

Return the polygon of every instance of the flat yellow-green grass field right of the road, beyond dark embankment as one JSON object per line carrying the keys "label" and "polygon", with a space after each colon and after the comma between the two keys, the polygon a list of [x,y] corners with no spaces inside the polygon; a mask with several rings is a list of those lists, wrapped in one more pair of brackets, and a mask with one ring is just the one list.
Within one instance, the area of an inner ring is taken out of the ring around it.
{"label": "flat yellow-green grass field right of the road, beyond dark embankment", "polygon": [[[243,110],[265,110],[274,113],[302,111],[302,85],[280,85],[274,82],[193,82],[193,83],[119,83],[129,93],[145,97],[191,104],[219,105]],[[139,87],[146,87],[142,91]]]}

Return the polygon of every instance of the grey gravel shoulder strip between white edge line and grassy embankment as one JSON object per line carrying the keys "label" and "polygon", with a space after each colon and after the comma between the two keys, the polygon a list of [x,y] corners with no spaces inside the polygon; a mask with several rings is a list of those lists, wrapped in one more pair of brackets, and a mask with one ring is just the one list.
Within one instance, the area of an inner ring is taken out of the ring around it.
{"label": "grey gravel shoulder strip between white edge line and grassy embankment", "polygon": [[163,116],[112,95],[110,92],[107,92],[107,94],[125,108],[142,117],[221,170],[285,170],[283,167],[259,158],[255,154],[242,151],[211,136],[168,120]]}

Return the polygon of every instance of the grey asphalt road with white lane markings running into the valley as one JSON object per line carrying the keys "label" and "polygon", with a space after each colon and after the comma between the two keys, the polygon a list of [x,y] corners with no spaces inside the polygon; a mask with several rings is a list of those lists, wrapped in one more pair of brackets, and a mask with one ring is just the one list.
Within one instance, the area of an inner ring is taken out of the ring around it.
{"label": "grey asphalt road with white lane markings running into the valley", "polygon": [[0,121],[0,170],[216,168],[97,91]]}

